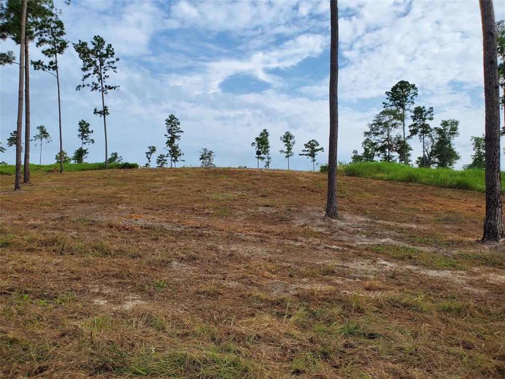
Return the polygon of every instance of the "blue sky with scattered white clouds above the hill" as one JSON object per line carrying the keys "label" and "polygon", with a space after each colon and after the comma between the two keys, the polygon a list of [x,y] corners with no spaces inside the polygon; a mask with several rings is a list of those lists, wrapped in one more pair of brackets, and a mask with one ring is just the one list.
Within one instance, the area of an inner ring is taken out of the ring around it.
{"label": "blue sky with scattered white clouds above the hill", "polygon": [[[271,168],[286,168],[280,136],[296,140],[290,168],[312,169],[298,156],[310,139],[327,158],[329,111],[329,1],[101,1],[73,0],[62,9],[67,38],[111,43],[120,58],[109,83],[119,85],[106,98],[109,153],[145,164],[147,146],[166,154],[165,119],[175,114],[184,133],[181,164],[199,165],[199,151],[213,150],[222,167],[256,167],[251,142],[270,132]],[[505,7],[494,2],[496,19]],[[416,106],[434,108],[432,126],[460,121],[456,150],[471,161],[470,137],[484,132],[482,30],[477,1],[338,2],[338,160],[362,151],[367,123],[382,109],[384,92],[399,80],[419,89]],[[19,47],[2,42],[1,51]],[[31,58],[43,59],[32,43]],[[80,147],[81,119],[94,130],[87,161],[103,161],[103,120],[93,114],[98,92],[77,91],[81,62],[70,44],[60,60],[63,150]],[[3,146],[16,129],[19,66],[0,68],[0,138]],[[45,125],[53,142],[42,147],[42,163],[59,152],[56,79],[31,71],[31,129]],[[502,117],[501,117],[502,118]],[[410,123],[410,119],[408,120]],[[422,148],[413,138],[413,158]],[[31,161],[39,148],[32,143]],[[1,160],[15,161],[15,148]]]}

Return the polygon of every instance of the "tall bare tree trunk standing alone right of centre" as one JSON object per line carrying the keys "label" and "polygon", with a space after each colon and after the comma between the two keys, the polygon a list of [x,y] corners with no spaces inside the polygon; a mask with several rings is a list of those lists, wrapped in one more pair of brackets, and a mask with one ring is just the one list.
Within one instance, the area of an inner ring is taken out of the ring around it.
{"label": "tall bare tree trunk standing alone right of centre", "polygon": [[337,211],[337,140],[338,140],[338,5],[330,0],[330,139],[328,145],[328,197],[326,216],[336,218]]}

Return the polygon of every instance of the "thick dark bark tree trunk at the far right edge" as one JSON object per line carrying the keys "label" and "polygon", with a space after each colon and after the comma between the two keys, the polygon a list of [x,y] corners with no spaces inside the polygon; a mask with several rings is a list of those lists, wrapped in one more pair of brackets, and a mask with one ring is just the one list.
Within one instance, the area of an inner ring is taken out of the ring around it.
{"label": "thick dark bark tree trunk at the far right edge", "polygon": [[484,48],[484,100],[486,147],[486,218],[483,241],[499,241],[505,237],[501,203],[500,113],[496,60],[496,29],[493,3],[480,0]]}

